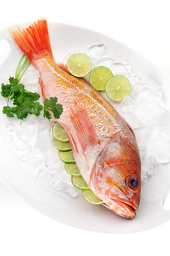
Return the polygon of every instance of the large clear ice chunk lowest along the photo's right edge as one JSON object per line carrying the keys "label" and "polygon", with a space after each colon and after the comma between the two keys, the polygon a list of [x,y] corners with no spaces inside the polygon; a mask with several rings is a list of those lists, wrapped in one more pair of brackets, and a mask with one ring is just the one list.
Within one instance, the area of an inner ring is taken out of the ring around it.
{"label": "large clear ice chunk lowest along the photo's right edge", "polygon": [[160,163],[169,163],[170,141],[160,134],[151,136],[147,143],[147,154]]}

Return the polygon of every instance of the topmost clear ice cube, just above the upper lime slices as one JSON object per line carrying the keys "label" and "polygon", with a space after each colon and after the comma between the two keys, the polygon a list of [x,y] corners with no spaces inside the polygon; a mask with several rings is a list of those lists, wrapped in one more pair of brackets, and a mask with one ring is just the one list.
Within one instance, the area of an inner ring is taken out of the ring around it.
{"label": "topmost clear ice cube, just above the upper lime slices", "polygon": [[87,55],[98,61],[101,59],[102,54],[105,52],[105,45],[104,44],[94,44],[89,47],[87,50]]}

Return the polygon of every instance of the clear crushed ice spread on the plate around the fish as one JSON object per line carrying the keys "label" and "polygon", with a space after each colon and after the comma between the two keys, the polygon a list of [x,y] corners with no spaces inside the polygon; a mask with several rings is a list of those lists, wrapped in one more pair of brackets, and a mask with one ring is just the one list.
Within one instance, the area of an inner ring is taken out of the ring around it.
{"label": "clear crushed ice spread on the plate around the fish", "polygon": [[[67,58],[80,51],[75,50],[65,56]],[[92,68],[97,66],[108,67],[113,75],[122,74],[131,84],[130,96],[122,102],[112,102],[105,92],[102,95],[113,105],[131,125],[137,138],[141,157],[141,179],[146,182],[148,175],[153,175],[157,164],[170,162],[170,142],[160,135],[166,123],[163,114],[166,106],[163,101],[161,87],[150,88],[142,79],[133,73],[133,67],[128,61],[117,61],[104,44],[90,46],[84,52],[90,57]],[[37,83],[39,73],[29,69],[22,78],[26,90],[41,94],[40,85]],[[87,76],[88,80],[89,77]],[[42,103],[42,97],[40,98]],[[28,116],[26,120],[7,118],[7,133],[11,136],[18,150],[20,160],[28,161],[34,166],[35,177],[41,179],[48,177],[50,188],[54,191],[63,191],[72,197],[78,195],[77,189],[71,183],[71,177],[64,170],[57,149],[52,143],[51,127],[53,121],[39,117]],[[49,179],[50,177],[50,179]]]}

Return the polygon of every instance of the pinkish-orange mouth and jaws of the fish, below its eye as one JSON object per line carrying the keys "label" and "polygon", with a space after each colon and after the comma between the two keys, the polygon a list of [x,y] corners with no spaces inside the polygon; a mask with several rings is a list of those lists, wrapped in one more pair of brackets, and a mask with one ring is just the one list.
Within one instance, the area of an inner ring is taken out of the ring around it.
{"label": "pinkish-orange mouth and jaws of the fish, below its eye", "polygon": [[129,198],[125,195],[124,192],[122,192],[122,190],[117,187],[116,185],[114,185],[110,191],[109,191],[109,198],[115,200],[115,202],[120,206],[119,207],[119,215],[124,215],[125,218],[134,218],[136,213],[135,211],[138,210],[138,206],[139,206],[139,202],[134,203],[129,200]]}

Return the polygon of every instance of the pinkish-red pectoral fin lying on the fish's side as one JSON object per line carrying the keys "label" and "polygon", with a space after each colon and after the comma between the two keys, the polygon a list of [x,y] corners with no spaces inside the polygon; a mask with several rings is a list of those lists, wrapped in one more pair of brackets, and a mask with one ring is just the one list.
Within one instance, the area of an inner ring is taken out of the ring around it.
{"label": "pinkish-red pectoral fin lying on the fish's side", "polygon": [[77,138],[83,150],[85,150],[87,146],[93,147],[99,144],[96,131],[90,121],[90,118],[87,116],[85,109],[78,107],[76,102],[75,111],[71,110],[70,119],[74,125]]}

